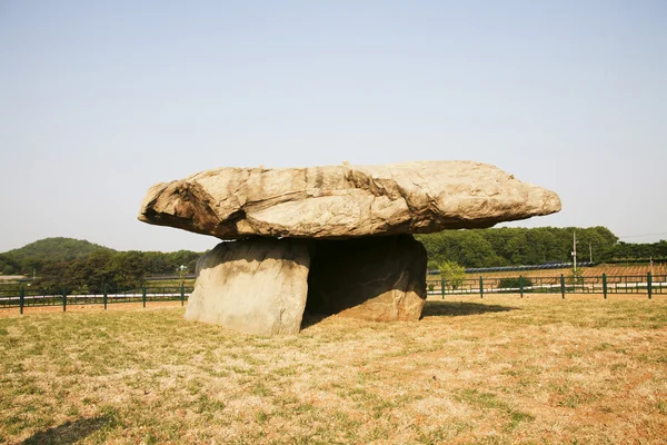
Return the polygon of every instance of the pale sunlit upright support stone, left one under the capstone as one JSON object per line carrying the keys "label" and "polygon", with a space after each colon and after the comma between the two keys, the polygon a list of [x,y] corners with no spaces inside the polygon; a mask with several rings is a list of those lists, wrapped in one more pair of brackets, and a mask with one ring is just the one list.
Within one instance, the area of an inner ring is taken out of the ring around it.
{"label": "pale sunlit upright support stone, left one under the capstone", "polygon": [[305,240],[220,243],[197,261],[186,319],[249,334],[298,334],[309,264]]}

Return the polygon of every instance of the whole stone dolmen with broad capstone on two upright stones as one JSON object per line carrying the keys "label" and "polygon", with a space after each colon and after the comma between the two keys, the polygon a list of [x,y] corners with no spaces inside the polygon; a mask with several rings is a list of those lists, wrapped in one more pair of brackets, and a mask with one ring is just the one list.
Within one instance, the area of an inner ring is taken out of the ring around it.
{"label": "whole stone dolmen with broad capstone on two upright stones", "polygon": [[197,263],[186,319],[297,334],[303,313],[418,320],[414,234],[560,210],[558,195],[475,161],[231,168],[152,186],[139,219],[220,240]]}

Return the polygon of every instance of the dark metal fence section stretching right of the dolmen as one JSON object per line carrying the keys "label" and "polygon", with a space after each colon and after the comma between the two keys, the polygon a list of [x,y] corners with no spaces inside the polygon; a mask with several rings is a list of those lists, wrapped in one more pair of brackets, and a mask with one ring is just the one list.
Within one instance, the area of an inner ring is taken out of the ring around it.
{"label": "dark metal fence section stretching right of the dolmen", "polygon": [[644,294],[653,298],[656,294],[667,294],[667,275],[637,276],[550,276],[550,277],[484,277],[466,278],[457,283],[445,279],[427,279],[427,294],[440,295],[479,295],[485,294]]}

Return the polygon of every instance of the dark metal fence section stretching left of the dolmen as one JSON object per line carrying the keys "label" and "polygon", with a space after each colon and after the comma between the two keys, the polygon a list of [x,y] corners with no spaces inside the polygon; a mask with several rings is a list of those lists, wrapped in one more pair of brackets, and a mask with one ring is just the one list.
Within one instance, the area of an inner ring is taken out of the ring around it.
{"label": "dark metal fence section stretching left of the dolmen", "polygon": [[107,305],[116,303],[141,303],[146,307],[151,301],[180,301],[181,306],[192,293],[185,285],[171,287],[141,286],[132,289],[108,289],[99,293],[68,291],[67,289],[43,289],[26,285],[1,286],[0,308],[16,308],[23,314],[26,307],[62,306],[67,310],[71,305]]}

